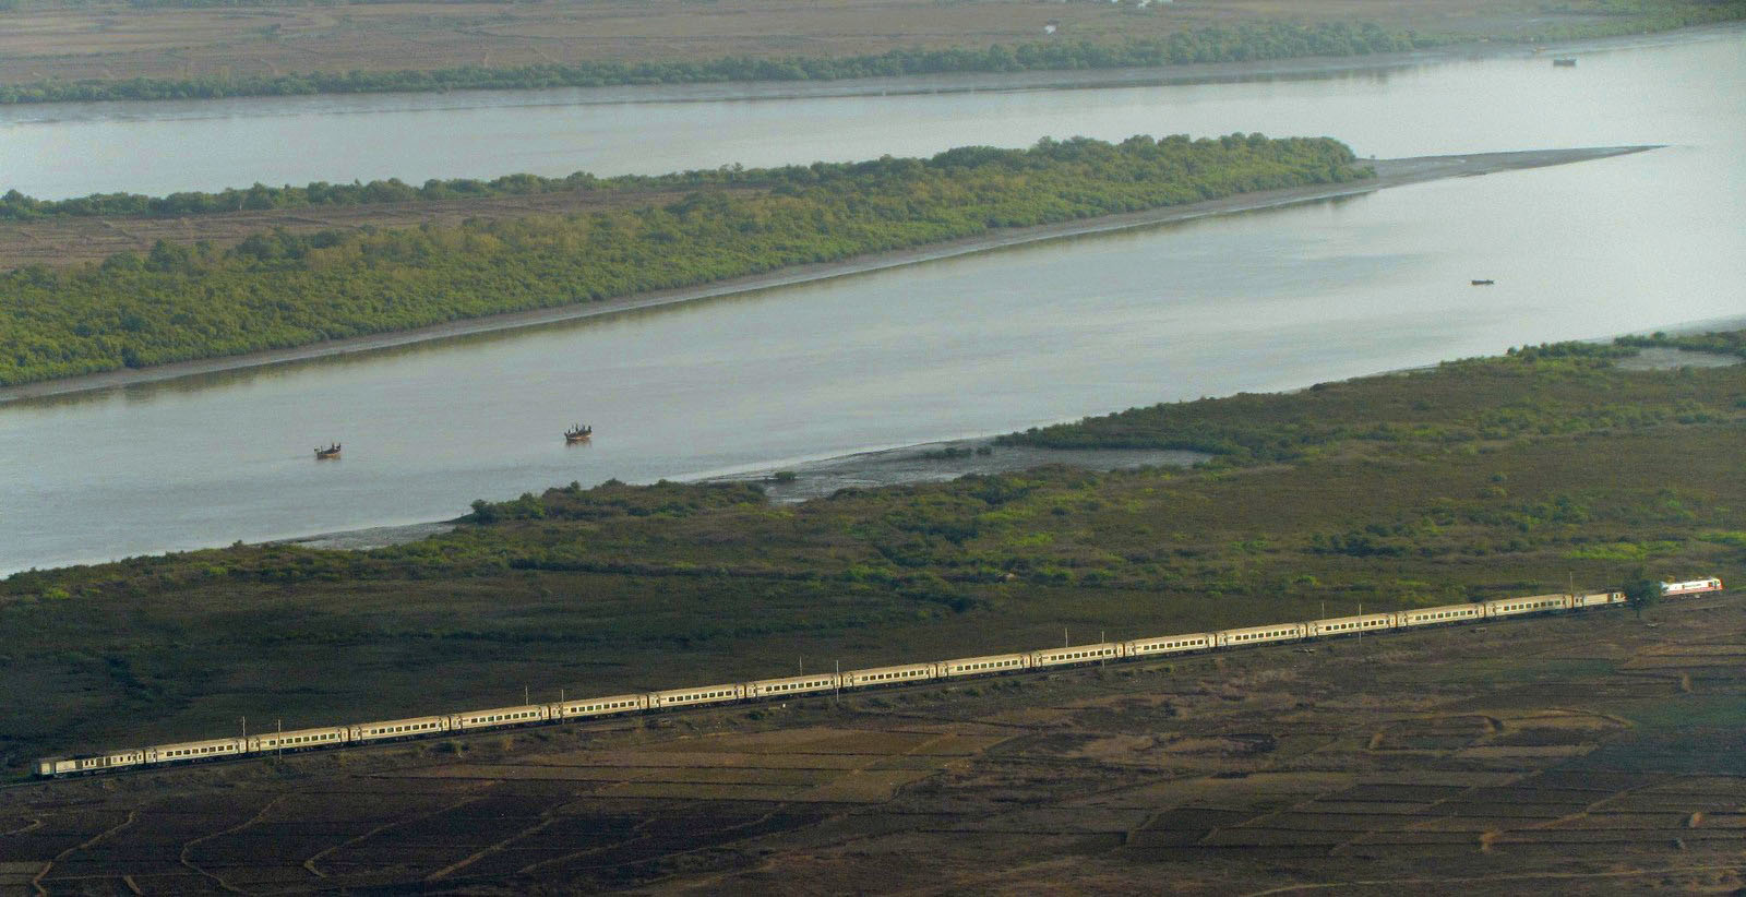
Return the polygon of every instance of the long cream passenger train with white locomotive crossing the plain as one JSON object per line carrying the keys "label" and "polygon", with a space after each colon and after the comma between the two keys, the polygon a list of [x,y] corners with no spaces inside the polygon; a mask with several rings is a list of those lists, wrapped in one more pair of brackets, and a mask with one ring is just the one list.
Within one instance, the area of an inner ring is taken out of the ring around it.
{"label": "long cream passenger train with white locomotive crossing the plain", "polygon": [[[1722,592],[1722,579],[1711,578],[1690,579],[1683,583],[1660,583],[1660,592],[1666,597]],[[1413,611],[1311,620],[1306,623],[1269,623],[1266,627],[1245,627],[1220,632],[1191,632],[1180,635],[1130,639],[1124,642],[1081,644],[1020,651],[1013,654],[904,663],[897,667],[847,670],[842,674],[789,675],[782,679],[760,679],[756,682],[721,682],[714,686],[674,688],[665,691],[613,695],[604,698],[494,707],[489,710],[466,710],[459,714],[421,716],[409,719],[382,719],[375,722],[354,722],[349,726],[271,731],[243,735],[237,738],[206,738],[169,745],[122,747],[103,754],[45,757],[37,761],[37,775],[66,777],[107,773],[141,766],[196,763],[217,757],[264,756],[286,750],[361,745],[402,738],[424,738],[452,731],[501,729],[510,726],[566,722],[574,719],[660,712],[679,707],[721,705],[746,700],[780,700],[798,695],[829,693],[845,688],[863,689],[910,682],[934,682],[1020,670],[1077,667],[1086,663],[1189,654],[1257,644],[1296,642],[1303,639],[1336,639],[1344,635],[1362,635],[1367,632],[1474,623],[1479,620],[1500,620],[1507,616],[1587,611],[1622,604],[1627,604],[1624,592],[1493,599],[1474,604],[1449,604]]]}

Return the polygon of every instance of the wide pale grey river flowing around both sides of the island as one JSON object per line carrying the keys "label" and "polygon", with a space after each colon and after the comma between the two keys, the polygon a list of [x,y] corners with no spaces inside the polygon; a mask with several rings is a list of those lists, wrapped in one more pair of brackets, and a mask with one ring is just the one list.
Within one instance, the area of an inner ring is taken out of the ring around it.
{"label": "wide pale grey river flowing around both sides of the island", "polygon": [[[697,476],[1737,318],[1741,35],[1585,52],[1577,68],[1484,59],[1083,91],[5,110],[0,183],[37,195],[609,175],[1044,134],[1334,134],[1381,157],[1667,148],[5,405],[0,571],[433,520],[571,480]],[[574,421],[595,426],[592,445],[562,443]],[[346,443],[344,461],[313,461],[327,440]]]}

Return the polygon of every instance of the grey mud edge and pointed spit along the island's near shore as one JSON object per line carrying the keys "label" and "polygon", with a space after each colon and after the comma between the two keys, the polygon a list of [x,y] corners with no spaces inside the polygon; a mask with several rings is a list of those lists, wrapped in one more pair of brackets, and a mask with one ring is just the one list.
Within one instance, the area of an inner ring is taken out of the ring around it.
{"label": "grey mud edge and pointed spit along the island's near shore", "polygon": [[992,250],[1002,250],[1007,246],[1023,246],[1030,243],[1044,243],[1053,239],[1069,239],[1091,234],[1107,234],[1116,230],[1158,227],[1158,225],[1189,222],[1196,218],[1210,218],[1219,215],[1238,215],[1245,211],[1261,211],[1261,209],[1296,206],[1304,202],[1318,202],[1325,199],[1362,195],[1390,187],[1428,183],[1444,178],[1477,176],[1477,175],[1493,175],[1500,171],[1517,171],[1529,168],[1561,166],[1570,162],[1585,162],[1592,159],[1629,155],[1653,148],[1659,147],[1653,145],[1585,147],[1570,150],[1517,150],[1517,152],[1491,152],[1491,154],[1470,154],[1470,155],[1419,155],[1407,159],[1369,161],[1369,164],[1376,168],[1376,176],[1362,181],[1315,183],[1306,187],[1289,187],[1283,190],[1257,190],[1252,194],[1236,194],[1224,199],[1193,202],[1187,206],[1165,206],[1158,209],[1145,209],[1126,215],[1105,215],[1098,218],[1079,218],[1072,222],[1058,222],[1049,225],[1004,229],[990,234],[981,234],[976,237],[932,243],[911,250],[859,255],[854,258],[845,258],[838,262],[822,262],[815,265],[786,267],[766,274],[753,274],[746,277],[733,277],[726,281],[714,281],[697,286],[683,286],[676,290],[637,293],[632,297],[608,300],[608,302],[590,302],[585,305],[560,305],[555,309],[533,309],[520,312],[492,314],[485,318],[468,318],[461,321],[447,321],[442,325],[423,326],[416,330],[396,330],[389,333],[374,333],[368,337],[351,337],[344,340],[316,342],[295,349],[274,349],[265,353],[206,358],[199,361],[176,361],[171,365],[157,365],[150,368],[124,368],[101,373],[82,373],[77,377],[63,377],[54,380],[40,380],[31,384],[0,387],[0,407],[26,400],[68,396],[75,393],[91,393],[101,389],[117,389],[117,387],[152,384],[162,380],[176,380],[183,377],[199,377],[206,373],[223,373],[223,372],[264,368],[274,365],[290,365],[299,361],[313,361],[320,358],[372,353],[400,346],[471,337],[480,333],[548,326],[557,323],[580,321],[587,318],[623,314],[641,309],[679,305],[686,302],[702,302],[709,298],[742,295],[760,290],[777,290],[786,286],[812,284],[836,277],[849,277],[875,270],[938,262],[943,258],[957,258],[962,255],[985,253]]}

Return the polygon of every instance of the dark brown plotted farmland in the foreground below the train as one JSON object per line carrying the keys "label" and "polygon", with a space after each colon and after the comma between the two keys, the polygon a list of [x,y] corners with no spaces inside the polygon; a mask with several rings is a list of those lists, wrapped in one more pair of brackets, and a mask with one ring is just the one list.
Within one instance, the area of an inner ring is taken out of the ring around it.
{"label": "dark brown plotted farmland in the foreground below the train", "polygon": [[[1739,644],[1746,602],[1723,607],[35,784],[0,791],[0,887],[1727,892],[1746,668],[1648,705],[1594,688]],[[1536,681],[1538,705],[1493,688],[1603,642],[1612,667]],[[1400,752],[1379,731],[1461,736]],[[1547,731],[1570,743],[1509,745]]]}

